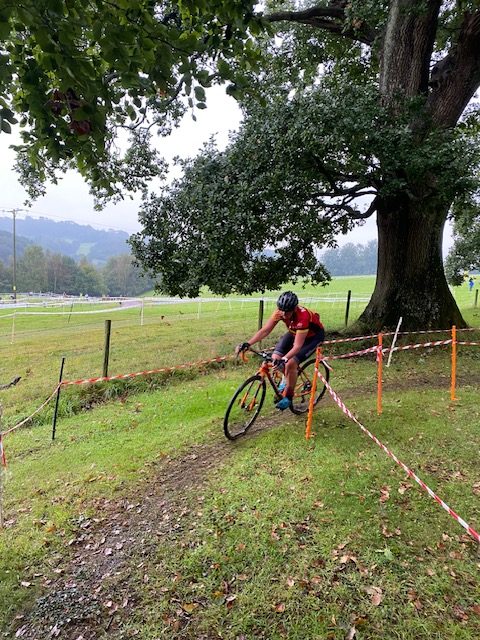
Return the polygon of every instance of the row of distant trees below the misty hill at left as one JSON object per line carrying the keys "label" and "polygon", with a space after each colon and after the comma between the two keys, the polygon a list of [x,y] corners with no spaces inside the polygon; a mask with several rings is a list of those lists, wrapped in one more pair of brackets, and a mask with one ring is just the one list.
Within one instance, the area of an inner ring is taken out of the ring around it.
{"label": "row of distant trees below the misty hill at left", "polygon": [[[154,287],[153,280],[142,276],[129,254],[114,256],[97,268],[85,258],[77,263],[33,244],[17,259],[16,279],[17,291],[68,295],[135,296]],[[12,291],[12,283],[12,261],[7,265],[0,260],[0,292]]]}

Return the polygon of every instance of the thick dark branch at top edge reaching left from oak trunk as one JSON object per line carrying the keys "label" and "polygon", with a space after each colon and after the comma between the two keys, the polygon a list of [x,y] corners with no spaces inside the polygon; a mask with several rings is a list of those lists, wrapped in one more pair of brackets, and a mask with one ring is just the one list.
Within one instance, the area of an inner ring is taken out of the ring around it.
{"label": "thick dark branch at top edge reaching left from oak trunk", "polygon": [[298,22],[308,24],[316,29],[330,31],[336,35],[363,42],[363,44],[373,44],[377,33],[364,22],[349,25],[346,22],[345,9],[343,6],[311,7],[303,11],[276,11],[265,16],[269,22]]}

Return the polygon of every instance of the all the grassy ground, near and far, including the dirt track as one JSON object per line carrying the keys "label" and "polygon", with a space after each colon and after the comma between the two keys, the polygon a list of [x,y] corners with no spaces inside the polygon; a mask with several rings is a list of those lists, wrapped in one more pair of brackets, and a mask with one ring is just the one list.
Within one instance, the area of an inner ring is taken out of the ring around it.
{"label": "all the grassy ground, near and far, including the dirt track", "polygon": [[[472,297],[457,296],[478,327]],[[257,305],[241,305],[178,305],[163,320],[145,309],[143,326],[131,309],[118,329],[112,316],[112,373],[230,353],[257,323]],[[58,318],[25,319],[25,335],[12,345],[5,334],[3,344],[2,378],[23,376],[3,393],[7,424],[55,385],[63,349],[65,377],[101,368],[103,320],[73,331]],[[479,363],[478,347],[459,347],[451,402],[449,347],[395,354],[381,416],[373,358],[338,361],[332,372],[363,424],[477,531]],[[225,406],[254,366],[175,374],[135,395],[119,387],[111,402],[68,417],[71,390],[55,442],[48,413],[5,438],[5,637],[480,637],[477,545],[333,402],[318,407],[309,443],[304,418],[277,416],[269,398],[255,432],[225,442]]]}

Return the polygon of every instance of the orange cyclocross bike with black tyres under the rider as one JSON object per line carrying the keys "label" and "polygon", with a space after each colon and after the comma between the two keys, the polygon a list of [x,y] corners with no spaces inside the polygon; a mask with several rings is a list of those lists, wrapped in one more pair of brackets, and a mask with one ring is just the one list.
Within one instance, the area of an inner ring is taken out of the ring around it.
{"label": "orange cyclocross bike with black tyres under the rider", "polygon": [[[256,351],[252,347],[249,347],[248,351],[262,358],[262,363],[258,371],[238,387],[230,400],[223,420],[223,430],[229,440],[236,440],[245,435],[258,418],[265,400],[267,380],[273,389],[275,398],[280,400],[283,397],[278,388],[283,376],[279,370],[274,369],[271,353],[269,351]],[[319,366],[323,369],[323,377],[328,382],[330,367],[324,360],[320,360]],[[297,415],[308,411],[314,374],[315,358],[302,363],[298,367],[295,394],[290,405],[290,410]],[[314,406],[323,398],[326,390],[325,384],[318,380]]]}

